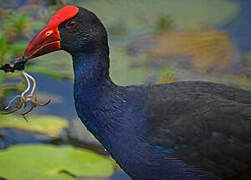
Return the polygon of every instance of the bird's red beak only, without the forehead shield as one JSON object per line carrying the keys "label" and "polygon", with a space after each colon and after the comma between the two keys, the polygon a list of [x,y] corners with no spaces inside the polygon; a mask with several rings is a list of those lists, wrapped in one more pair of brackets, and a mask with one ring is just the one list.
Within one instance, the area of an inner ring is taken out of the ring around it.
{"label": "bird's red beak only, without the forehead shield", "polygon": [[61,50],[59,31],[57,27],[49,27],[48,24],[31,40],[24,57],[33,59],[58,50]]}

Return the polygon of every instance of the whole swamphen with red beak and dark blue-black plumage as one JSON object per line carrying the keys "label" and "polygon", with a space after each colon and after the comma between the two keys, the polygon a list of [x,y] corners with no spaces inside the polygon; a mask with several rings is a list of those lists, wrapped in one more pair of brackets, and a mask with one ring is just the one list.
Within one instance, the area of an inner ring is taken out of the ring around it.
{"label": "whole swamphen with red beak and dark blue-black plumage", "polygon": [[59,10],[30,42],[32,59],[72,55],[78,116],[135,180],[251,179],[251,93],[210,82],[118,86],[105,27],[81,7]]}

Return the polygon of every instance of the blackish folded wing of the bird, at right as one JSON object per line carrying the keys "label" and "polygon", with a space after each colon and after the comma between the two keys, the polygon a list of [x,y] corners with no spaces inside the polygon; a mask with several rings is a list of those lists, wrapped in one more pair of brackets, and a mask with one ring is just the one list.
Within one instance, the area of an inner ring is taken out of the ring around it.
{"label": "blackish folded wing of the bird, at right", "polygon": [[176,82],[149,86],[146,96],[147,140],[157,150],[220,177],[251,174],[250,92]]}

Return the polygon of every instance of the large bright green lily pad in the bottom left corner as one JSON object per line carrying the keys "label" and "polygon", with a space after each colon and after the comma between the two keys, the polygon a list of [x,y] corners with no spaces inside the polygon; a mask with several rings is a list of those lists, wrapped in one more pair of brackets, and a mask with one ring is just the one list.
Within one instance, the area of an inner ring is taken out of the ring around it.
{"label": "large bright green lily pad in the bottom left corner", "polygon": [[0,177],[10,180],[73,180],[113,173],[110,159],[72,146],[13,146],[0,151],[0,167]]}

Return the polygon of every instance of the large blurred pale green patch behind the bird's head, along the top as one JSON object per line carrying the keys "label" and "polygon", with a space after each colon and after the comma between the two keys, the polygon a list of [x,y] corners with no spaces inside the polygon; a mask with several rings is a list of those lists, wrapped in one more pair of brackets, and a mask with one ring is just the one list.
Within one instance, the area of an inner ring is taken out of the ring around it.
{"label": "large blurred pale green patch behind the bird's head, along the top", "polygon": [[153,32],[160,17],[168,17],[178,29],[213,28],[240,10],[238,3],[226,0],[89,0],[80,5],[94,11],[108,31],[123,22],[123,38]]}

